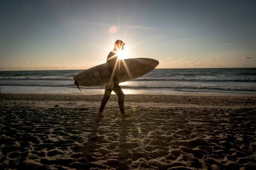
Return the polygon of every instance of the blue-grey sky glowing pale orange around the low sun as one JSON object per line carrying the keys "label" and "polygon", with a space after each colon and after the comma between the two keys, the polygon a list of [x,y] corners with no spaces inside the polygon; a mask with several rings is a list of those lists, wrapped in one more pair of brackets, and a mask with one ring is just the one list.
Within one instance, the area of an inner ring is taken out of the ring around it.
{"label": "blue-grey sky glowing pale orange around the low sun", "polygon": [[118,39],[157,68],[256,67],[255,0],[2,0],[0,71],[87,69]]}

